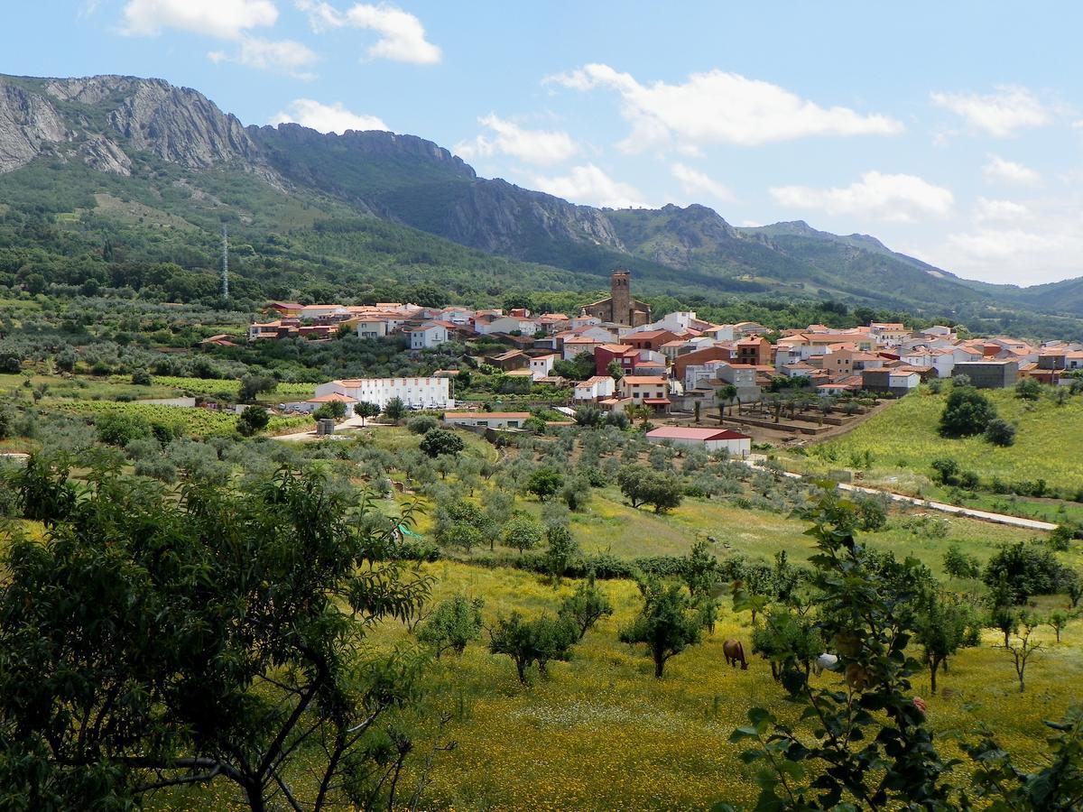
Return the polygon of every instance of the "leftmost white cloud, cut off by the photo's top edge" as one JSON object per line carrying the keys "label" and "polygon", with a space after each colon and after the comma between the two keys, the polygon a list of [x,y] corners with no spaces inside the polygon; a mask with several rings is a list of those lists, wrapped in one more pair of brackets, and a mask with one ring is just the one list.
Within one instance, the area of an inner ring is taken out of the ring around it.
{"label": "leftmost white cloud, cut off by the photo's top edge", "polygon": [[278,9],[271,0],[128,0],[123,32],[153,37],[166,28],[237,39],[249,28],[271,26]]}

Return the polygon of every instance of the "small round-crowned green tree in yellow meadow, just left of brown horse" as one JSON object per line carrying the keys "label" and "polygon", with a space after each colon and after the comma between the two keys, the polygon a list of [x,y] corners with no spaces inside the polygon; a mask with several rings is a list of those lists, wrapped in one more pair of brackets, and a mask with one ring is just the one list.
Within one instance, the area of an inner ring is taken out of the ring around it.
{"label": "small round-crowned green tree in yellow meadow, just left of brown horse", "polygon": [[621,630],[621,642],[643,643],[654,660],[654,676],[662,679],[666,663],[700,642],[700,617],[678,584],[665,586],[657,578],[640,580],[643,608]]}

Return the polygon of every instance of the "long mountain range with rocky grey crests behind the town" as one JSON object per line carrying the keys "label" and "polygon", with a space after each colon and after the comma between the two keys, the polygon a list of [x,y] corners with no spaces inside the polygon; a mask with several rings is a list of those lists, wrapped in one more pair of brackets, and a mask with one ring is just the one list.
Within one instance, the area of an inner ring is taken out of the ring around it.
{"label": "long mountain range with rocky grey crests behind the town", "polygon": [[[114,196],[126,185],[138,188],[149,209],[157,208],[155,195],[172,201],[183,188],[186,202],[172,206],[170,215],[200,228],[213,210],[264,232],[304,227],[296,210],[287,217],[284,200],[312,210],[309,226],[322,217],[378,218],[387,228],[439,238],[426,244],[430,252],[439,254],[447,240],[533,263],[508,265],[514,273],[534,266],[565,272],[561,278],[584,289],[626,266],[653,291],[833,299],[956,317],[1083,316],[1083,278],[1033,288],[988,285],[874,237],[828,234],[801,221],[746,228],[697,205],[577,206],[479,178],[447,149],[414,135],[244,127],[201,93],[158,79],[0,76],[0,211],[5,188],[15,189],[13,200],[28,201],[37,199],[28,191],[37,179],[54,176],[60,185],[76,175],[88,192],[96,193],[95,184]],[[251,199],[222,194],[226,175],[244,175],[234,185],[256,184],[277,198],[275,206],[255,211]],[[193,201],[203,206],[203,220]]]}

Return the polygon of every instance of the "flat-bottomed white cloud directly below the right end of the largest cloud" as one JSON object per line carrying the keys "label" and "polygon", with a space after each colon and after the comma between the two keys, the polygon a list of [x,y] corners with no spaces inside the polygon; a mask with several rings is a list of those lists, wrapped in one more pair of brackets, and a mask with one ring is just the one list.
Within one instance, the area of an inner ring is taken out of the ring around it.
{"label": "flat-bottomed white cloud directly below the right end of the largest cloud", "polygon": [[913,222],[918,218],[942,218],[951,212],[954,196],[912,174],[865,172],[861,180],[841,188],[778,186],[771,196],[782,206],[820,209],[830,214],[849,214],[870,220]]}

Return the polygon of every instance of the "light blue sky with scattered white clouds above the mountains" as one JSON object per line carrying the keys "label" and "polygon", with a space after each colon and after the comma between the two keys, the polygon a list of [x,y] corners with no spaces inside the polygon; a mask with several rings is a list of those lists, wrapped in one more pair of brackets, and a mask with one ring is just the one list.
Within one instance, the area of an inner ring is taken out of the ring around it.
{"label": "light blue sky with scattered white clouds above the mountains", "polygon": [[420,135],[577,204],[872,234],[1083,276],[1083,4],[4,0],[0,73],[195,88],[244,123]]}

